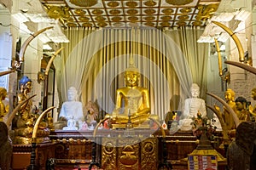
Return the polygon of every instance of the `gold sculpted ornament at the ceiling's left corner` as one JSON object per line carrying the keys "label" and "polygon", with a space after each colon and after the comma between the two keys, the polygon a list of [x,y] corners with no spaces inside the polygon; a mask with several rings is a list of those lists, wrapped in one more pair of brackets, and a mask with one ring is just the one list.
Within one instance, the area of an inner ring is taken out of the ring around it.
{"label": "gold sculpted ornament at the ceiling's left corner", "polygon": [[69,8],[60,6],[46,6],[49,18],[68,20],[70,18]]}

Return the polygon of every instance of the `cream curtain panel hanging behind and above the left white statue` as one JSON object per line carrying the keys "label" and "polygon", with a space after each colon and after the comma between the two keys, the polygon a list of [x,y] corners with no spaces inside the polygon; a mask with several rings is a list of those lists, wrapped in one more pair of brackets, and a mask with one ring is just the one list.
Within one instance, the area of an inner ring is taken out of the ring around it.
{"label": "cream curtain panel hanging behind and above the left white statue", "polygon": [[[81,79],[84,75],[84,67],[89,62],[88,54],[97,48],[95,39],[101,40],[101,35],[90,37],[94,28],[69,28],[65,30],[69,43],[62,43],[64,47],[61,51],[61,74],[58,76],[58,84],[61,93],[61,101],[67,100],[67,89],[71,86],[79,91],[79,96],[82,93]],[[87,41],[84,41],[86,37]],[[80,98],[78,99],[80,100]]]}

